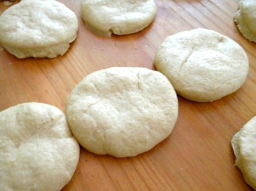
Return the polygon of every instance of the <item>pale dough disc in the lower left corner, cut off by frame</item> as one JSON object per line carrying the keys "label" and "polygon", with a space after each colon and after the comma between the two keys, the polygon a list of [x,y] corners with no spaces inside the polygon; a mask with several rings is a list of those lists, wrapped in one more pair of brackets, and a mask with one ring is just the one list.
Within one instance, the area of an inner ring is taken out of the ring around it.
{"label": "pale dough disc in the lower left corner, cut off by frame", "polygon": [[0,190],[59,191],[72,178],[79,144],[65,114],[23,103],[0,112]]}

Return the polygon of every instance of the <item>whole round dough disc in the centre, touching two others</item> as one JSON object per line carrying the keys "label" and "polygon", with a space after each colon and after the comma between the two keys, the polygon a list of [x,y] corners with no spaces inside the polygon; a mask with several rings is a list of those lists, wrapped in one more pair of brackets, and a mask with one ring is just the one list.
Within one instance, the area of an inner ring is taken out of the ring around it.
{"label": "whole round dough disc in the centre, touching two others", "polygon": [[86,76],[68,97],[69,126],[96,154],[135,156],[172,132],[177,96],[163,74],[141,67],[110,67]]}

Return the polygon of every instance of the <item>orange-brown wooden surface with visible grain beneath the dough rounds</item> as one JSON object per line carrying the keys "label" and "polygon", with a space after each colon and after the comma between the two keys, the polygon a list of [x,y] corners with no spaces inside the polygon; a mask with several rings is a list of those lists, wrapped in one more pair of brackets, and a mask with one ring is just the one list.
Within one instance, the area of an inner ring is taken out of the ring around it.
{"label": "orange-brown wooden surface with visible grain beneath the dough rounds", "polygon": [[[152,150],[133,158],[92,154],[83,148],[73,179],[63,191],[253,190],[234,167],[233,135],[256,114],[256,44],[245,40],[233,16],[239,0],[156,0],[158,13],[142,32],[101,37],[80,18],[80,1],[61,1],[79,18],[71,48],[54,59],[19,60],[0,52],[0,110],[28,101],[55,105],[65,112],[69,92],[87,74],[111,66],[154,69],[156,50],[176,32],[213,29],[237,41],[248,54],[250,73],[232,95],[212,103],[179,97],[179,118],[173,133]],[[0,2],[0,13],[9,6]]]}

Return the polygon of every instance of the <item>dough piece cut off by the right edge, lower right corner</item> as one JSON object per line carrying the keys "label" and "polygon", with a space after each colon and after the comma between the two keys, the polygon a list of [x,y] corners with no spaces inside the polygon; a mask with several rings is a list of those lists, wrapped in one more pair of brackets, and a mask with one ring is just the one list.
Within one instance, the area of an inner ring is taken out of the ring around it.
{"label": "dough piece cut off by the right edge, lower right corner", "polygon": [[236,156],[235,165],[247,184],[256,190],[256,116],[234,135],[232,148]]}

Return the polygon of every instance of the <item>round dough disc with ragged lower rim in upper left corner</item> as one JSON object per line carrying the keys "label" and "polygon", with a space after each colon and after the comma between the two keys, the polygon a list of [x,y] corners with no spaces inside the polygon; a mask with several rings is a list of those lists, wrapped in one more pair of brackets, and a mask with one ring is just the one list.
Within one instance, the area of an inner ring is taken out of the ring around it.
{"label": "round dough disc with ragged lower rim in upper left corner", "polygon": [[75,13],[54,0],[22,0],[0,16],[0,44],[18,58],[63,55],[77,30]]}

